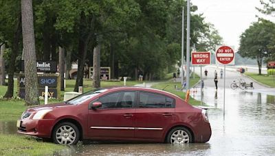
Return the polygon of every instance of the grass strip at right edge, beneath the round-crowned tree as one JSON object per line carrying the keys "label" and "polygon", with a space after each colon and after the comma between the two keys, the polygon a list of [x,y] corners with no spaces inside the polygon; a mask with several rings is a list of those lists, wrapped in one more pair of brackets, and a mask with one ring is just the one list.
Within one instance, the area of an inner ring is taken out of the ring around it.
{"label": "grass strip at right edge, beneath the round-crowned tree", "polygon": [[275,88],[275,77],[258,75],[256,73],[245,73],[245,75],[251,77],[252,79],[255,79],[256,81],[259,81],[260,83],[270,86],[271,88]]}

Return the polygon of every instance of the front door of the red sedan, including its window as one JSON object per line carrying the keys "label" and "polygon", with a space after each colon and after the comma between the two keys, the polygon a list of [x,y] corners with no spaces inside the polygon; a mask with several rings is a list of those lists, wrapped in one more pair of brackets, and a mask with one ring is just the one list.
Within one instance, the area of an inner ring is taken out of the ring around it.
{"label": "front door of the red sedan, including its window", "polygon": [[[137,92],[113,92],[97,99],[98,109],[89,109],[88,135],[90,138],[133,138],[133,107]],[[95,102],[95,101],[93,101]]]}

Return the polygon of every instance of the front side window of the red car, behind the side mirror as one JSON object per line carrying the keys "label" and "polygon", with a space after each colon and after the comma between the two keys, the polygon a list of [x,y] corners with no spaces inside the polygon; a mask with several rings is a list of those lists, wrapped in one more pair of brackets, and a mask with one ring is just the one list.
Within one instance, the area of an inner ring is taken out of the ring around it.
{"label": "front side window of the red car, behind the side mirror", "polygon": [[102,96],[97,101],[102,103],[101,108],[133,107],[135,92],[115,92]]}

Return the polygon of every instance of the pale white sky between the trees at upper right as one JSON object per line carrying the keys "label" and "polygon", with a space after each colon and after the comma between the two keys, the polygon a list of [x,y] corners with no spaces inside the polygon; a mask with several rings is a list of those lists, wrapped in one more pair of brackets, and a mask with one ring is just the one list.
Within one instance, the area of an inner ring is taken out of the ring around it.
{"label": "pale white sky between the trees at upper right", "polygon": [[263,16],[255,7],[262,8],[260,0],[190,0],[197,5],[196,13],[203,13],[205,21],[219,31],[225,45],[239,48],[239,36]]}

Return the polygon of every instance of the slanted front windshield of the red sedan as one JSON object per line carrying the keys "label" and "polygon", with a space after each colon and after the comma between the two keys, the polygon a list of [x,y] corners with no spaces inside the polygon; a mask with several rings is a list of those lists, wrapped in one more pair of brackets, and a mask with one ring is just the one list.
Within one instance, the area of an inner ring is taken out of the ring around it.
{"label": "slanted front windshield of the red sedan", "polygon": [[102,92],[106,92],[107,89],[96,89],[96,90],[91,90],[89,92],[85,92],[83,94],[80,94],[79,96],[74,97],[73,99],[69,99],[68,101],[65,101],[65,103],[77,105],[80,103],[83,103],[87,99],[91,99],[92,97],[101,94]]}

